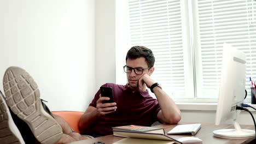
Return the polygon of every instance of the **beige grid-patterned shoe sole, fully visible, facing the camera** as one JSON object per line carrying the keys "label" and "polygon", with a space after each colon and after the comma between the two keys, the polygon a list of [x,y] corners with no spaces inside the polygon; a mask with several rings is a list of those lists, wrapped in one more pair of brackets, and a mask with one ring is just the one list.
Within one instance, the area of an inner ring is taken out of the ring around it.
{"label": "beige grid-patterned shoe sole, fully visible, facing the camera", "polygon": [[9,67],[3,87],[11,111],[27,123],[40,143],[56,143],[61,139],[61,126],[44,110],[38,86],[24,69]]}

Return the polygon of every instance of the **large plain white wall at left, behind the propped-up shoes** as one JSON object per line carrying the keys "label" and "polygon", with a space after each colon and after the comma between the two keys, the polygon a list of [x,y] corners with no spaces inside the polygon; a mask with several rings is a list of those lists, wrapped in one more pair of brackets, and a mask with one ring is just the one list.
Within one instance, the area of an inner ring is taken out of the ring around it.
{"label": "large plain white wall at left, behind the propped-up shoes", "polygon": [[0,50],[0,81],[24,68],[52,111],[84,111],[96,91],[95,1],[0,1]]}

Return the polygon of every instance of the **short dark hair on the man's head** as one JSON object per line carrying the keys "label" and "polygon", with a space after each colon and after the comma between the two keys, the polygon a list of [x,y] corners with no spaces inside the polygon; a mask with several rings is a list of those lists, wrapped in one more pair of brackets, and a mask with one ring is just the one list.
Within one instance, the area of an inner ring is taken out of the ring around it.
{"label": "short dark hair on the man's head", "polygon": [[127,52],[125,61],[127,62],[127,59],[136,59],[139,57],[144,57],[146,59],[146,62],[148,64],[149,68],[152,68],[155,63],[155,57],[153,55],[152,50],[148,49],[145,46],[133,46],[131,49]]}

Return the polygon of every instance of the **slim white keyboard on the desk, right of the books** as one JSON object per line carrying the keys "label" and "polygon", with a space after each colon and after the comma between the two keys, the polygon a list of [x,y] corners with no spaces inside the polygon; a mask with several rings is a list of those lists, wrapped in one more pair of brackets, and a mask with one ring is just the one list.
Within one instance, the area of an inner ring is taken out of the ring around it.
{"label": "slim white keyboard on the desk, right of the books", "polygon": [[201,128],[201,123],[194,124],[181,124],[174,127],[172,130],[168,131],[167,134],[191,134],[195,135],[197,131]]}

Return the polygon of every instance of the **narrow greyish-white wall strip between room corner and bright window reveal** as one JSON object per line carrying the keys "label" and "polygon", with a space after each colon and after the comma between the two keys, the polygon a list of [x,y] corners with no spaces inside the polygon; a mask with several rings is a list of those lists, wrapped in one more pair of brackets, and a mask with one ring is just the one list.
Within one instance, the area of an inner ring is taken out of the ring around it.
{"label": "narrow greyish-white wall strip between room corner and bright window reveal", "polygon": [[96,0],[96,88],[115,83],[115,1]]}

